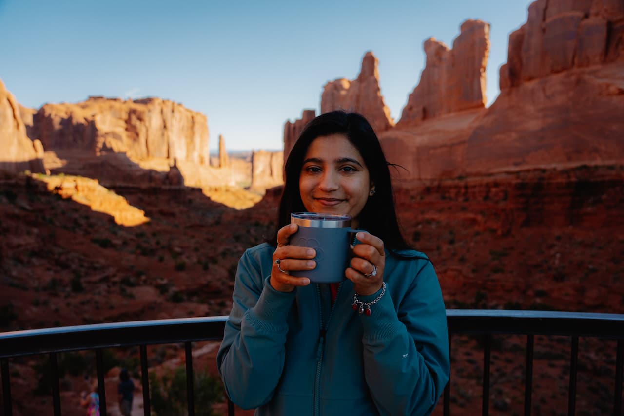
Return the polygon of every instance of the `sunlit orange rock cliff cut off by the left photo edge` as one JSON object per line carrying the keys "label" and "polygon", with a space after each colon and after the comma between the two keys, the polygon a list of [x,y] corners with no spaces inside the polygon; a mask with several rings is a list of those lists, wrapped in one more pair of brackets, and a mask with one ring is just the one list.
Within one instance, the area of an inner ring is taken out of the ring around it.
{"label": "sunlit orange rock cliff cut off by the left photo edge", "polygon": [[27,137],[22,108],[0,80],[0,170],[44,172],[41,142]]}

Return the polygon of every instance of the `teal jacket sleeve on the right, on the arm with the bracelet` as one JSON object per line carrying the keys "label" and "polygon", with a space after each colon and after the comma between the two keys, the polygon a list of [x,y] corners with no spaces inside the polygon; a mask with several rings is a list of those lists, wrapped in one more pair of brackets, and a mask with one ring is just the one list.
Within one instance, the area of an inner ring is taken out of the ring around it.
{"label": "teal jacket sleeve on the right, on the arm with the bracelet", "polygon": [[386,293],[371,309],[373,315],[361,317],[364,375],[379,413],[430,414],[450,371],[446,308],[431,262],[421,266],[398,308]]}

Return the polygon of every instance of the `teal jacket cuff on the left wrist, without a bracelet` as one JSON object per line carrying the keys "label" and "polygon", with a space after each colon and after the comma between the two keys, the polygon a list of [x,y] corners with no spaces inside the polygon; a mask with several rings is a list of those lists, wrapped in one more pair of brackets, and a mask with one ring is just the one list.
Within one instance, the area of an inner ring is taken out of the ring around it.
{"label": "teal jacket cuff on the left wrist, without a bracelet", "polygon": [[256,329],[273,333],[287,332],[286,316],[295,301],[296,290],[276,291],[269,283],[269,279],[270,276],[265,279],[258,302],[247,310],[246,315]]}

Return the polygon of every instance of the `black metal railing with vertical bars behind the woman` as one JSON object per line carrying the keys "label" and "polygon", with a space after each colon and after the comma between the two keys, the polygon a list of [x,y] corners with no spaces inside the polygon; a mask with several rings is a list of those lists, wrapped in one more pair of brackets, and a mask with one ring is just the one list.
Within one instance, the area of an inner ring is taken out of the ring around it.
{"label": "black metal railing with vertical bars behind the woman", "polygon": [[[139,346],[144,414],[148,416],[150,415],[150,390],[147,346],[180,342],[185,344],[188,414],[194,415],[191,343],[222,339],[226,319],[226,316],[163,319],[0,333],[0,370],[2,375],[2,397],[4,402],[2,409],[4,410],[4,415],[12,415],[11,380],[9,375],[9,359],[11,357],[49,354],[52,372],[52,405],[54,415],[61,415],[57,353],[94,350],[100,395],[100,413],[105,415],[106,396],[102,349]],[[449,326],[449,343],[455,334],[482,334],[484,337],[482,414],[489,414],[492,336],[495,334],[517,334],[527,336],[525,415],[530,415],[531,413],[535,335],[567,336],[571,339],[568,415],[575,414],[579,337],[617,340],[613,414],[622,415],[624,314],[449,309],[447,310],[447,322]],[[450,403],[451,383],[449,382],[444,390],[444,415],[450,414]],[[228,415],[233,414],[234,406],[228,400]]]}

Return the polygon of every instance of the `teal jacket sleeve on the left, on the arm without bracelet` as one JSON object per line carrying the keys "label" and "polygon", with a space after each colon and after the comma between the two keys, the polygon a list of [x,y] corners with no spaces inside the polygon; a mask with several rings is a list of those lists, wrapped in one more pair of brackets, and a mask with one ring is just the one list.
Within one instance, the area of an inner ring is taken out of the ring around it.
{"label": "teal jacket sleeve on the left, on the arm without bracelet", "polygon": [[[243,409],[266,404],[284,367],[286,316],[295,291],[278,292],[263,281],[249,250],[238,261],[232,312],[225,323],[217,365],[230,399]],[[264,283],[264,284],[263,284]]]}

